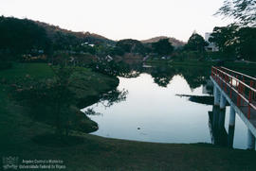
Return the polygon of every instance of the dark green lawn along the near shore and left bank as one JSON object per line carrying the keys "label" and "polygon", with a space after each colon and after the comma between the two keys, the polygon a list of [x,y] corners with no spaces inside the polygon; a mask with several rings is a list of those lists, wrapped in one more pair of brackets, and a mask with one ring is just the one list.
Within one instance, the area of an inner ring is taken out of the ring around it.
{"label": "dark green lawn along the near shore and left bank", "polygon": [[[81,69],[76,77],[82,77],[79,85],[86,84],[80,94],[103,92],[116,81]],[[43,63],[15,64],[12,69],[0,71],[0,80],[9,83],[16,77],[52,77],[51,70]],[[101,84],[99,84],[99,81]],[[6,82],[6,81],[4,81]],[[107,83],[108,82],[108,83]],[[109,83],[112,82],[112,83]],[[104,85],[96,87],[96,85]],[[105,85],[107,84],[107,85]],[[81,86],[79,86],[81,87]],[[8,87],[0,84],[0,158],[18,157],[21,160],[62,160],[68,171],[87,170],[256,170],[254,151],[223,148],[214,145],[156,144],[102,138],[73,131],[82,144],[65,147],[39,145],[33,141],[37,135],[52,132],[53,128],[35,122],[24,109],[8,98]],[[84,92],[82,92],[84,91]],[[94,93],[94,94],[95,94]],[[0,162],[0,170],[2,162]],[[31,169],[27,169],[31,170]],[[35,169],[39,170],[39,169]],[[49,169],[46,169],[49,170]],[[56,169],[52,169],[56,170]]]}

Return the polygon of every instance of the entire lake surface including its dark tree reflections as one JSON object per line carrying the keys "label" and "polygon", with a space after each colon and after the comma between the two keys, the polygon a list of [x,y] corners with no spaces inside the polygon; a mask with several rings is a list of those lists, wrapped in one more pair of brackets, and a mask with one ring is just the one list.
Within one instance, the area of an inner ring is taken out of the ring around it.
{"label": "entire lake surface including its dark tree reflections", "polygon": [[[119,72],[118,91],[126,91],[119,95],[113,92],[114,97],[105,95],[100,103],[83,110],[103,113],[91,116],[100,126],[93,134],[146,142],[203,142],[245,148],[243,136],[234,136],[234,128],[229,128],[229,132],[225,128],[229,114],[213,107],[210,68],[142,67],[141,63],[126,63],[120,68],[124,69]],[[242,132],[243,122],[238,119],[236,123],[236,133]]]}

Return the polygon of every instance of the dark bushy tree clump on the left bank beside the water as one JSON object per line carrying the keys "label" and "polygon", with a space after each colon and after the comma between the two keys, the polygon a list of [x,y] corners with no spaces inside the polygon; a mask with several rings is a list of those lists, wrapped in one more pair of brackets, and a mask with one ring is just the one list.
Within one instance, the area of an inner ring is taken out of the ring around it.
{"label": "dark bushy tree clump on the left bank beside the water", "polygon": [[[51,124],[56,134],[68,135],[77,121],[76,110],[71,106],[74,93],[70,91],[71,67],[52,67],[55,77],[46,80],[22,78],[13,87],[13,97],[27,107],[31,117],[37,121]],[[73,124],[72,124],[73,123]]]}

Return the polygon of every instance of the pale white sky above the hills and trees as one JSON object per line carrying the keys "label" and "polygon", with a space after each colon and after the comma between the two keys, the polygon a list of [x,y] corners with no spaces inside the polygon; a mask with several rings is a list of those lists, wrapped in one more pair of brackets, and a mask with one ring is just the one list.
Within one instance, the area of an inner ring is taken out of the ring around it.
{"label": "pale white sky above the hills and trees", "polygon": [[156,36],[187,42],[231,21],[213,14],[224,0],[0,0],[0,15],[28,18],[111,40]]}

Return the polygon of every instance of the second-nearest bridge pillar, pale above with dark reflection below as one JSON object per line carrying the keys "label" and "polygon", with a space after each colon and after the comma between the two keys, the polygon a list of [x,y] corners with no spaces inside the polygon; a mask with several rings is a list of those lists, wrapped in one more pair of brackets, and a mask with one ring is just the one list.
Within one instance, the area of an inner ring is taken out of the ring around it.
{"label": "second-nearest bridge pillar, pale above with dark reflection below", "polygon": [[231,148],[233,147],[233,142],[234,142],[234,128],[235,128],[235,111],[234,111],[234,108],[230,106],[228,145]]}

